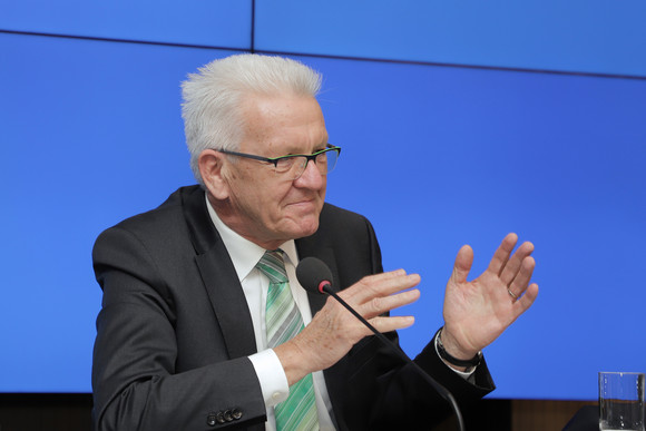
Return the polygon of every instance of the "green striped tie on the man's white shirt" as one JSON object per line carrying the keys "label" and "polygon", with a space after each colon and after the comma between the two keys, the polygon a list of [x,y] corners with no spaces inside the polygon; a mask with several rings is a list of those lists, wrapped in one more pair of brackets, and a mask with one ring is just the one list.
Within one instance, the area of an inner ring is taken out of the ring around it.
{"label": "green striped tie on the man's white shirt", "polygon": [[[266,252],[256,267],[270,278],[265,321],[267,344],[273,349],[293,339],[303,330],[303,317],[292,297],[283,251]],[[312,374],[307,374],[290,386],[290,396],[278,403],[274,412],[277,431],[319,430]]]}

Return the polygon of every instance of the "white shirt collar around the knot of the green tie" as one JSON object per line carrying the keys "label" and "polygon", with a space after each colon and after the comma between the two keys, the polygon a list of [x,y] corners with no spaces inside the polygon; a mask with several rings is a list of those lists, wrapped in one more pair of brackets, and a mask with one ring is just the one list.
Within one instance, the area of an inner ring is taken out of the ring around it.
{"label": "white shirt collar around the knot of the green tie", "polygon": [[[238,280],[242,282],[255,268],[261,257],[265,254],[265,249],[238,235],[231,227],[225,225],[211,205],[206,193],[204,196],[206,198],[206,207],[208,208],[211,221],[219,233],[228,255],[231,256]],[[296,244],[294,239],[283,243],[280,248],[285,252],[285,264],[296,266],[298,263],[298,255],[296,253]]]}

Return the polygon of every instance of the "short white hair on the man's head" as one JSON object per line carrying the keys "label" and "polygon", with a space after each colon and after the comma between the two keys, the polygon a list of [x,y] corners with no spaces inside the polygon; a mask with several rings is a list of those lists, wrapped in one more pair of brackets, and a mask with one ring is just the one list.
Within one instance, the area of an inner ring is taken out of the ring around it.
{"label": "short white hair on the man's head", "polygon": [[205,149],[236,150],[243,137],[242,104],[253,95],[315,97],[321,75],[282,57],[242,53],[215,60],[182,82],[182,118],[190,168],[204,186],[197,164]]}

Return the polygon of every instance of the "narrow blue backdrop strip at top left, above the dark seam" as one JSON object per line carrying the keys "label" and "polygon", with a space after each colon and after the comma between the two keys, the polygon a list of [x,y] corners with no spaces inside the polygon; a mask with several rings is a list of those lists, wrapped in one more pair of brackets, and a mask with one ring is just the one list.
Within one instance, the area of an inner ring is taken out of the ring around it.
{"label": "narrow blue backdrop strip at top left, above the dark seam", "polygon": [[0,29],[248,49],[251,0],[13,0]]}

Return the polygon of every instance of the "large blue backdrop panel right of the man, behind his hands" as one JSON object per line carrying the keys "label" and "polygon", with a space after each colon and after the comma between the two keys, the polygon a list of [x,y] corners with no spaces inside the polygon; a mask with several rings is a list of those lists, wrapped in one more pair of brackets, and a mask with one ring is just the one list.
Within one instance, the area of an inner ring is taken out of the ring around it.
{"label": "large blue backdrop panel right of the man, behind his hands", "polygon": [[486,350],[492,396],[594,400],[598,371],[646,370],[646,81],[304,60],[343,147],[329,202],[373,221],[386,270],[422,275],[410,355],[442,324],[460,246],[473,278],[517,232],[540,294]]}

